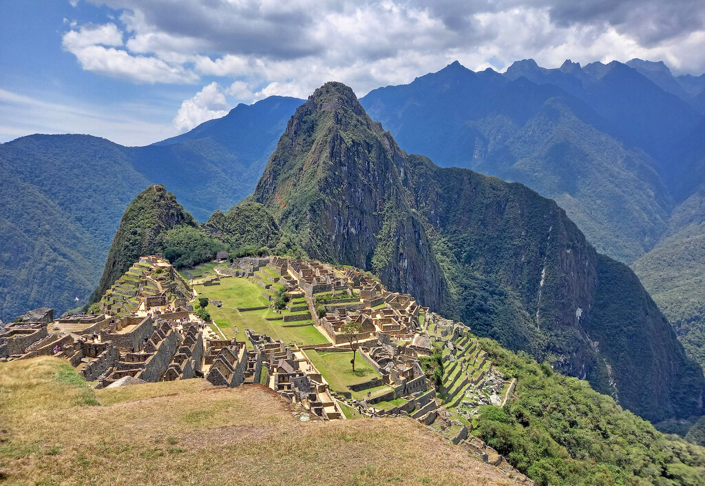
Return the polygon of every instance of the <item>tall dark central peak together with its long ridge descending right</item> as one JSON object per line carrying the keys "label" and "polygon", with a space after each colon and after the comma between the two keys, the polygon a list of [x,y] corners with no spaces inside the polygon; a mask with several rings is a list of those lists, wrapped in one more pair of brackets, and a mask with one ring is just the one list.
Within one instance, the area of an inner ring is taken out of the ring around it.
{"label": "tall dark central peak together with its long ridge descending right", "polygon": [[702,370],[627,266],[526,186],[407,155],[341,83],[297,109],[251,199],[310,256],[377,271],[643,417],[701,412]]}

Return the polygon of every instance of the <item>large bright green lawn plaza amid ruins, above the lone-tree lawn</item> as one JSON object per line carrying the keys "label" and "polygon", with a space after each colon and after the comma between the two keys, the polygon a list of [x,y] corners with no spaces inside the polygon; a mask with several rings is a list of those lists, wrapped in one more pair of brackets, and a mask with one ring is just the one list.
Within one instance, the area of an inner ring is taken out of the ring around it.
{"label": "large bright green lawn plaza amid ruins, above the lone-tree lawn", "polygon": [[[221,285],[194,285],[199,296],[210,300],[220,300],[222,307],[208,306],[212,319],[228,338],[247,341],[245,329],[250,328],[256,333],[264,333],[274,339],[281,339],[287,344],[323,344],[328,340],[314,326],[285,327],[284,321],[267,321],[267,317],[279,317],[283,314],[305,314],[304,312],[288,312],[276,314],[272,309],[258,311],[238,311],[238,307],[262,307],[269,305],[269,300],[262,297],[264,289],[247,278],[221,278]],[[305,324],[306,321],[287,324]],[[234,332],[238,328],[238,333]],[[247,342],[250,347],[250,343]]]}

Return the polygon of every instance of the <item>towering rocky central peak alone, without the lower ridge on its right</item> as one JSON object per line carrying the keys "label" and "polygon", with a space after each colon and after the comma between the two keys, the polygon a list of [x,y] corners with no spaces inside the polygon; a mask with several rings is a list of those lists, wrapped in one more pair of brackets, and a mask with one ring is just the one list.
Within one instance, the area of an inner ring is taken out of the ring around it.
{"label": "towering rocky central peak alone, without the lower ridge on its right", "polygon": [[353,90],[326,83],[288,122],[254,198],[312,258],[375,268],[388,287],[443,308],[447,283],[409,206],[405,164]]}

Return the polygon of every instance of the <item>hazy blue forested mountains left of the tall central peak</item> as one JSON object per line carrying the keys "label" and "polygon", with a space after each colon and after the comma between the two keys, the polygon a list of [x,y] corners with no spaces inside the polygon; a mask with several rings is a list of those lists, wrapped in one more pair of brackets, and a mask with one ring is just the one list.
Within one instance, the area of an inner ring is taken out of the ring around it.
{"label": "hazy blue forested mountains left of the tall central peak", "polygon": [[168,184],[200,220],[250,194],[300,102],[238,105],[147,147],[85,135],[0,144],[0,319],[87,302],[125,206],[149,184]]}

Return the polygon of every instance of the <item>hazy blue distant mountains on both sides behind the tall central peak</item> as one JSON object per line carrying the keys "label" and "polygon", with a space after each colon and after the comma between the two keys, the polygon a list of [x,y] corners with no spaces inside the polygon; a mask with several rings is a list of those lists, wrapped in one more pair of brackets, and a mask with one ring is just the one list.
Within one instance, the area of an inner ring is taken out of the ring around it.
{"label": "hazy blue distant mountains on both sides behind the tall central peak", "polygon": [[[683,323],[677,329],[698,329],[702,302],[689,282],[701,271],[661,278],[658,268],[673,254],[682,268],[705,268],[697,244],[705,78],[675,78],[665,67],[566,61],[542,69],[529,60],[500,74],[454,63],[360,102],[407,152],[555,199],[598,251],[628,264],[642,259],[635,269],[666,315]],[[143,148],[89,136],[29,136],[0,146],[8,208],[0,225],[0,318],[39,305],[67,309],[74,297],[85,302],[119,215],[151,182],[166,184],[201,221],[250,194],[301,102],[240,105]]]}

